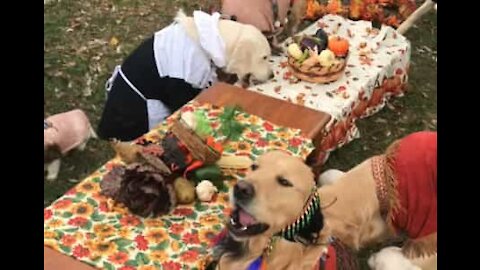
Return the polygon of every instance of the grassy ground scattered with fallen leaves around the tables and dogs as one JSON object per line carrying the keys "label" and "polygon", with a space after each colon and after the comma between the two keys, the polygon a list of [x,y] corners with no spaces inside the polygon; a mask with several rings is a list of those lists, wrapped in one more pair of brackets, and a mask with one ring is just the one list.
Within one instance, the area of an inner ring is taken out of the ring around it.
{"label": "grassy ground scattered with fallen leaves around the tables and dogs", "polygon": [[[104,83],[114,66],[175,11],[218,6],[218,0],[62,0],[44,7],[45,116],[80,108],[96,127],[105,101]],[[437,128],[437,23],[428,14],[407,33],[412,43],[409,91],[376,115],[359,120],[361,138],[333,152],[327,168],[348,170],[381,153],[392,141],[418,130]],[[118,44],[111,44],[112,38]],[[77,181],[113,157],[109,145],[89,142],[84,152],[62,159],[59,178],[44,184],[49,205]],[[360,254],[362,261],[376,248]],[[365,264],[363,263],[365,267]]]}

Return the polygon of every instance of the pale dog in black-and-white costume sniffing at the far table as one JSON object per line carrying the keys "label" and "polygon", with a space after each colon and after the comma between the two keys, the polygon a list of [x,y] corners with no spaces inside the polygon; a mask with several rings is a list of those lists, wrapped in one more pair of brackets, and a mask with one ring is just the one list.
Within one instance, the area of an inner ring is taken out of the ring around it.
{"label": "pale dog in black-and-white costume sniffing at the far table", "polygon": [[270,55],[267,39],[251,25],[179,11],[115,68],[98,135],[136,139],[217,82],[219,73],[234,74],[244,86],[273,78]]}

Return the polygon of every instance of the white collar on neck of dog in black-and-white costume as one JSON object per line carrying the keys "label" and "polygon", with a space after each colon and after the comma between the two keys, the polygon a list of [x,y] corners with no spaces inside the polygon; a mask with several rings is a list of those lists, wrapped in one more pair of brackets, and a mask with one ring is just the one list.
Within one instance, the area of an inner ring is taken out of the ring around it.
{"label": "white collar on neck of dog in black-and-white costume", "polygon": [[215,66],[223,68],[226,66],[225,42],[218,30],[220,13],[215,12],[209,15],[203,11],[193,12],[193,19],[197,27],[200,46],[212,59]]}

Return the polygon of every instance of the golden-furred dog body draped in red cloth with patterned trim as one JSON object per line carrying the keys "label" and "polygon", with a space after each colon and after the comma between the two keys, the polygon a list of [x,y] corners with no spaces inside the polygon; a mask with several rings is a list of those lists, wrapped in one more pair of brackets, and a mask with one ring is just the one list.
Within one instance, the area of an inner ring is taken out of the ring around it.
{"label": "golden-furred dog body draped in red cloth with patterned trim", "polygon": [[[436,132],[416,132],[346,173],[321,175],[320,198],[336,199],[322,211],[322,234],[357,250],[406,234],[401,255],[421,269],[436,269],[436,144]],[[335,176],[339,177],[331,183]],[[386,250],[371,264],[377,265],[374,269],[401,269],[381,267],[385,258],[393,258],[394,264],[398,255]]]}

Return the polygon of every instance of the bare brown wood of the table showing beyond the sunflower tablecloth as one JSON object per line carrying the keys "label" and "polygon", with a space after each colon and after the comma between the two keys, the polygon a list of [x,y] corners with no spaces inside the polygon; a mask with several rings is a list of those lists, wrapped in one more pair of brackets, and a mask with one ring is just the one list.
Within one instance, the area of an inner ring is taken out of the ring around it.
{"label": "bare brown wood of the table showing beyond the sunflower tablecloth", "polygon": [[[315,146],[320,144],[322,130],[330,120],[330,115],[326,113],[224,83],[218,83],[203,91],[196,100],[216,106],[239,105],[244,111],[274,124],[300,129],[304,136],[313,140]],[[315,166],[315,153],[311,156],[310,163],[314,171],[318,171],[319,166]],[[44,247],[44,269],[92,270],[95,268]]]}

